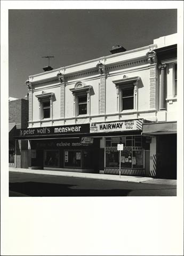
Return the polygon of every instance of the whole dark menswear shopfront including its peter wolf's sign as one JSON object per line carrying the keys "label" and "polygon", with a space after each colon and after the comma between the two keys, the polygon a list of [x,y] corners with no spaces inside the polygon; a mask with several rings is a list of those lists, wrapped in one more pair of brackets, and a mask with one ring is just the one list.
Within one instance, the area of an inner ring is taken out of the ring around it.
{"label": "whole dark menswear shopfront including its peter wolf's sign", "polygon": [[18,130],[29,141],[30,169],[98,172],[100,138],[87,138],[90,124]]}

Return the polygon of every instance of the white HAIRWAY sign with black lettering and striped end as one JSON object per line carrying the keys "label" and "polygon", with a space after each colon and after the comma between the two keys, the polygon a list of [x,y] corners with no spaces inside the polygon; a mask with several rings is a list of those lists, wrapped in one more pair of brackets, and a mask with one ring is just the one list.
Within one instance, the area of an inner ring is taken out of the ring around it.
{"label": "white HAIRWAY sign with black lettering and striped end", "polygon": [[90,133],[142,130],[142,123],[143,119],[117,121],[110,123],[91,123]]}

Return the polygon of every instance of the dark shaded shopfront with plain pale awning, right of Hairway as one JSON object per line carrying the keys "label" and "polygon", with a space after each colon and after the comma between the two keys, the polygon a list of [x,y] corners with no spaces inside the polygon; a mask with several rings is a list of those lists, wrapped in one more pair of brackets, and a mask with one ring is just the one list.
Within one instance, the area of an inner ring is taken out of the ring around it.
{"label": "dark shaded shopfront with plain pale awning, right of Hairway", "polygon": [[151,137],[150,176],[177,179],[177,122],[143,124],[143,137]]}

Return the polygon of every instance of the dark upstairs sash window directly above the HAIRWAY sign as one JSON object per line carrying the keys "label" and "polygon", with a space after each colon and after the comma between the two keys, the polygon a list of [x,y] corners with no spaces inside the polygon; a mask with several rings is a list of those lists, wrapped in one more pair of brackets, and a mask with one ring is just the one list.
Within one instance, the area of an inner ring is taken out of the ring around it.
{"label": "dark upstairs sash window directly above the HAIRWAY sign", "polygon": [[133,87],[122,90],[123,110],[133,109]]}

